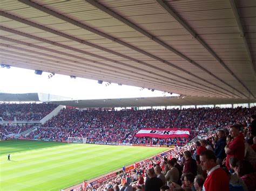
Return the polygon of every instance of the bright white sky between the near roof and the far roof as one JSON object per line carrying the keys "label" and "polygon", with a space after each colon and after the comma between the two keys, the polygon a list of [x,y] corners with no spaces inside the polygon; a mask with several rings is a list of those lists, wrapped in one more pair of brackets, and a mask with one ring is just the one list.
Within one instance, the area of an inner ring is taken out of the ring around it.
{"label": "bright white sky between the near roof and the far roof", "polygon": [[0,67],[0,93],[46,93],[76,100],[177,96],[141,87],[118,86],[116,83],[106,86],[107,82],[99,84],[96,80],[80,77],[71,79],[70,76],[60,74],[49,79],[49,74],[43,72],[42,75],[36,75],[35,70]]}

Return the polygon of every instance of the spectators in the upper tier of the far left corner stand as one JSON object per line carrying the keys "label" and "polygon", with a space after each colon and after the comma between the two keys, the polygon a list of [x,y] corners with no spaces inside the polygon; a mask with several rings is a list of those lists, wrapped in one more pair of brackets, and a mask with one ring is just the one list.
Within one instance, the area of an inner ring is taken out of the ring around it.
{"label": "spectators in the upper tier of the far left corner stand", "polygon": [[2,103],[0,117],[4,121],[38,121],[48,115],[57,105],[48,103]]}

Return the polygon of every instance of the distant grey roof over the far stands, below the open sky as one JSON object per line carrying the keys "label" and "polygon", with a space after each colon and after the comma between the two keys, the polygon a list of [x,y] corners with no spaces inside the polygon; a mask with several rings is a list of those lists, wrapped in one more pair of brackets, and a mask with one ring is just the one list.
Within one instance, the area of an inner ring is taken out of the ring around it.
{"label": "distant grey roof over the far stands, below the open sky", "polygon": [[100,100],[71,100],[63,97],[44,93],[9,94],[0,93],[0,102],[48,102],[59,105],[68,105],[77,108],[113,108],[113,107],[143,107],[143,106],[168,106],[168,105],[211,105],[233,103],[256,103],[256,99],[218,98],[218,97],[138,97]]}

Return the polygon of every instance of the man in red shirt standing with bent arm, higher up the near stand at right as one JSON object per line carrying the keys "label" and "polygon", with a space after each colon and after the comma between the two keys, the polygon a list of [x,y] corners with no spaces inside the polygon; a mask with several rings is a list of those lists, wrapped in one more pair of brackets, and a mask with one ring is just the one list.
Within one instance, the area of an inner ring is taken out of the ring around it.
{"label": "man in red shirt standing with bent arm, higher up the near stand at right", "polygon": [[237,158],[242,160],[245,158],[245,139],[242,133],[239,133],[241,125],[235,124],[230,127],[230,134],[233,137],[233,140],[229,145],[226,145],[225,152],[227,154],[226,158],[226,167],[230,169],[230,164],[228,160],[230,157]]}

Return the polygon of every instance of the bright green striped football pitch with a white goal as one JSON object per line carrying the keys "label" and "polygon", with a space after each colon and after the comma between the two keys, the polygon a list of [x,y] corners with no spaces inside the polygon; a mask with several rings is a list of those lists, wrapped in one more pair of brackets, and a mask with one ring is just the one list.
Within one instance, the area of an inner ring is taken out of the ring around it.
{"label": "bright green striped football pitch with a white goal", "polygon": [[165,150],[6,140],[0,142],[0,190],[60,190]]}

